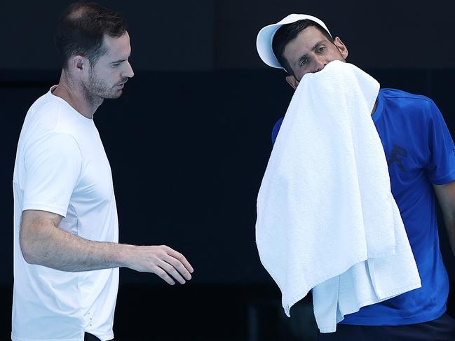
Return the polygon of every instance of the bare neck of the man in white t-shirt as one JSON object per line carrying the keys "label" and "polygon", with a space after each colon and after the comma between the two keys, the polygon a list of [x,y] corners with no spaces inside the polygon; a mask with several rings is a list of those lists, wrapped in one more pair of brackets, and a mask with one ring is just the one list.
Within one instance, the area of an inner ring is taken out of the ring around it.
{"label": "bare neck of the man in white t-shirt", "polygon": [[62,71],[60,81],[52,93],[62,98],[74,110],[89,119],[93,118],[96,109],[102,104],[102,99],[94,100],[88,98],[81,85],[70,80],[65,74],[65,71]]}

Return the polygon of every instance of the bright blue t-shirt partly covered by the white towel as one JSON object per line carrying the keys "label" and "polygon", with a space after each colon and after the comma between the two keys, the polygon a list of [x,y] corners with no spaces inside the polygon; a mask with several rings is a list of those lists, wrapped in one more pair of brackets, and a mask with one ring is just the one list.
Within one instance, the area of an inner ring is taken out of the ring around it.
{"label": "bright blue t-shirt partly covered by the white towel", "polygon": [[[340,323],[397,326],[437,319],[446,310],[449,279],[442,263],[432,184],[455,180],[455,146],[428,97],[381,89],[372,116],[381,138],[397,202],[422,287],[362,307]],[[275,143],[283,118],[273,127]]]}

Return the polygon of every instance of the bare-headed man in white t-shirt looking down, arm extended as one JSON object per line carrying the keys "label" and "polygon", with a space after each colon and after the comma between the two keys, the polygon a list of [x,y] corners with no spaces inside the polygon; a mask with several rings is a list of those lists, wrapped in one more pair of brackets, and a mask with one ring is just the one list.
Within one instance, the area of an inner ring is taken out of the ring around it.
{"label": "bare-headed man in white t-shirt looking down, arm extended", "polygon": [[25,118],[13,176],[11,339],[112,340],[118,267],[184,284],[193,269],[168,246],[118,244],[111,169],[93,123],[133,69],[118,13],[72,4],[58,25],[58,85]]}

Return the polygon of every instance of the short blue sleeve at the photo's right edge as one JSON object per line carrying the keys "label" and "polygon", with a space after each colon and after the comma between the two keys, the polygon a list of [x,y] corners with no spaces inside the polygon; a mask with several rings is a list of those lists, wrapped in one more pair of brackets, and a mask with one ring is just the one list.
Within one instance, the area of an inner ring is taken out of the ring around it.
{"label": "short blue sleeve at the photo's right edge", "polygon": [[428,149],[426,167],[428,178],[435,185],[455,180],[455,146],[440,110],[433,101],[429,104]]}

